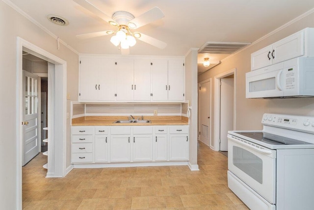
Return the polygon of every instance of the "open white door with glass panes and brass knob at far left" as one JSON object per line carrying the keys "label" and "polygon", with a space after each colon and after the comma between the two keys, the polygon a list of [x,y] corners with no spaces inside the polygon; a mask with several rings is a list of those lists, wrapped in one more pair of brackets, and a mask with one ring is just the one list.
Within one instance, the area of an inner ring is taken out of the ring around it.
{"label": "open white door with glass panes and brass knob at far left", "polygon": [[23,71],[23,165],[39,153],[37,79]]}

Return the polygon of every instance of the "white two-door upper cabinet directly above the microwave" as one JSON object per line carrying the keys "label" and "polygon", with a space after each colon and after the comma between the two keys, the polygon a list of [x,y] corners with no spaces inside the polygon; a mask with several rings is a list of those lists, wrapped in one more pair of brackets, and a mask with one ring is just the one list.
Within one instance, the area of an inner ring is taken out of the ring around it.
{"label": "white two-door upper cabinet directly above the microwave", "polygon": [[[314,28],[305,28],[251,54],[251,71],[291,58],[314,56]],[[311,46],[312,45],[312,46]]]}

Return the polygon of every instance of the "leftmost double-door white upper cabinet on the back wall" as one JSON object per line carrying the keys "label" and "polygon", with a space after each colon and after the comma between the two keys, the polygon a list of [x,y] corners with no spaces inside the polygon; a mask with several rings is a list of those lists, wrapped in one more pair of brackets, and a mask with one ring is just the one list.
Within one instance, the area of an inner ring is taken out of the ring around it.
{"label": "leftmost double-door white upper cabinet on the back wall", "polygon": [[79,86],[80,101],[114,101],[115,60],[81,57]]}

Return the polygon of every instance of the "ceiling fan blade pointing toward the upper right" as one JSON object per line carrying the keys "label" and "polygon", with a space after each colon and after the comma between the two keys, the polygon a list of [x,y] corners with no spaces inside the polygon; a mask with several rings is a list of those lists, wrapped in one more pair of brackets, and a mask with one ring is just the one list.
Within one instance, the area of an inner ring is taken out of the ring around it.
{"label": "ceiling fan blade pointing toward the upper right", "polygon": [[145,26],[146,24],[152,23],[154,21],[157,21],[157,20],[163,18],[164,16],[165,15],[162,13],[162,11],[158,7],[154,7],[151,10],[148,10],[147,12],[134,18],[130,22],[135,24],[135,26],[136,26],[136,27],[134,27],[134,29],[135,29],[135,28],[139,28],[141,26]]}

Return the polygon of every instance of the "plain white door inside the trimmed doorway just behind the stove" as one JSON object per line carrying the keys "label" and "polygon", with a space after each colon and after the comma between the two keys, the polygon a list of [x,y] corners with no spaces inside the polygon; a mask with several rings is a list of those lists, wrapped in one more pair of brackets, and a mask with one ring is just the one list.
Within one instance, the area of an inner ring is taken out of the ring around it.
{"label": "plain white door inside the trimmed doorway just behind the stove", "polygon": [[228,131],[234,130],[234,79],[220,79],[220,151],[228,151]]}

